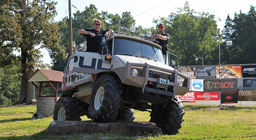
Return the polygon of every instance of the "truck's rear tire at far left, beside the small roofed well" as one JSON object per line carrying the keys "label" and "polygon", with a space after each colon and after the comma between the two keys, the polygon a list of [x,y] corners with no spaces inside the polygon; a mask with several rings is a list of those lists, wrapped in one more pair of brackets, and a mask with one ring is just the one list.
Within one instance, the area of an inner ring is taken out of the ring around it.
{"label": "truck's rear tire at far left, beside the small roofed well", "polygon": [[60,98],[54,106],[53,120],[81,120],[81,108],[76,98]]}

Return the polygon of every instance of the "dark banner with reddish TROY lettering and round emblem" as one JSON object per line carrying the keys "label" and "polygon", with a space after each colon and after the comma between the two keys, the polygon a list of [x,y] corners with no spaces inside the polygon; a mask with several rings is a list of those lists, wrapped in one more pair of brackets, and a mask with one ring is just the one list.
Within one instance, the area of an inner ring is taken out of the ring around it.
{"label": "dark banner with reddish TROY lettering and round emblem", "polygon": [[235,91],[237,79],[204,80],[204,91]]}

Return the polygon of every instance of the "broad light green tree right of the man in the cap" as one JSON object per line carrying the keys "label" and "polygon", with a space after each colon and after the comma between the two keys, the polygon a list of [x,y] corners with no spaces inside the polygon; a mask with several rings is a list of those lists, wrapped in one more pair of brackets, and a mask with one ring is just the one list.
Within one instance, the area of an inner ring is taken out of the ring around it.
{"label": "broad light green tree right of the man in the cap", "polygon": [[168,19],[154,19],[156,25],[163,23],[166,33],[170,34],[168,51],[176,54],[179,65],[195,65],[195,57],[204,58],[204,64],[218,64],[218,42],[212,38],[217,30],[214,15],[196,13],[188,2],[184,8],[178,8]]}

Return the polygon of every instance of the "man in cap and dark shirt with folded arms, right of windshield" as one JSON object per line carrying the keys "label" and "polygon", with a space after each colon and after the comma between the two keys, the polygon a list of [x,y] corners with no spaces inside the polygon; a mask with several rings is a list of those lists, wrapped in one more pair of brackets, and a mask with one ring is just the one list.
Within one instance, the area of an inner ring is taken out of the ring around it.
{"label": "man in cap and dark shirt with folded arms, right of windshield", "polygon": [[[164,30],[164,24],[158,25],[158,33],[154,33],[153,35],[156,35],[156,41],[159,41],[159,45],[162,46],[162,53],[164,55],[164,60],[166,58],[166,51],[168,48],[168,40],[170,39],[170,35],[165,33]],[[150,37],[151,39],[154,39],[154,36]]]}

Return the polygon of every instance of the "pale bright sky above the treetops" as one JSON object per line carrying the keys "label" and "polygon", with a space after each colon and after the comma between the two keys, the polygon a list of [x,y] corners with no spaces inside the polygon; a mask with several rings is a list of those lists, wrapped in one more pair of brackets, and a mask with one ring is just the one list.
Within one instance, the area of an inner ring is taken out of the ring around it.
{"label": "pale bright sky above the treetops", "polygon": [[[69,17],[68,0],[54,1],[58,2],[56,5],[58,15],[54,20],[58,22],[66,16]],[[82,12],[90,4],[94,4],[98,8],[98,12],[108,11],[109,14],[122,16],[123,12],[128,11],[136,20],[135,26],[141,25],[143,28],[150,28],[156,27],[152,22],[154,18],[159,18],[159,16],[168,18],[171,12],[177,13],[178,8],[183,8],[186,1],[188,1],[190,9],[194,9],[195,12],[214,14],[220,30],[223,30],[228,14],[233,19],[235,12],[239,14],[241,10],[242,13],[248,13],[250,5],[256,6],[256,0],[71,0],[71,11],[72,13],[77,10]],[[42,60],[50,64],[50,56],[47,50],[42,50],[42,53],[44,54]]]}

